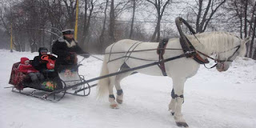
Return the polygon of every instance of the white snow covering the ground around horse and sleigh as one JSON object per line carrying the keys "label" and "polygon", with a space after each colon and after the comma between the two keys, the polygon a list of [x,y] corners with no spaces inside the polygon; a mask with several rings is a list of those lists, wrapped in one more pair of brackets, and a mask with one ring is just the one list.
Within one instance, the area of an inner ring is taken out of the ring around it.
{"label": "white snow covering the ground around horse and sleigh", "polygon": [[[87,97],[65,95],[60,102],[46,102],[4,89],[10,86],[12,64],[21,57],[33,59],[36,55],[38,53],[0,50],[1,128],[178,127],[168,111],[172,82],[166,77],[134,74],[125,78],[122,81],[124,102],[118,110],[110,109],[107,98],[96,98],[96,87]],[[102,58],[102,55],[95,56]],[[101,61],[87,58],[82,64],[79,73],[86,79],[98,77]],[[230,69],[222,73],[201,66],[198,74],[185,85],[182,114],[190,128],[255,127],[255,70],[256,62],[250,58],[237,58]]]}

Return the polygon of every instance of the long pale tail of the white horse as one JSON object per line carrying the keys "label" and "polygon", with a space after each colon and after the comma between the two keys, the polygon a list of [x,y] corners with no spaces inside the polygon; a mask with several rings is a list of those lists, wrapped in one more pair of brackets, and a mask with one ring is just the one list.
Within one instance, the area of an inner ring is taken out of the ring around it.
{"label": "long pale tail of the white horse", "polygon": [[[107,57],[105,55],[103,63],[102,63],[102,71],[101,75],[109,74],[109,70],[107,67]],[[102,78],[98,80],[98,98],[102,98],[104,95],[107,94],[108,86],[110,85],[110,78]]]}

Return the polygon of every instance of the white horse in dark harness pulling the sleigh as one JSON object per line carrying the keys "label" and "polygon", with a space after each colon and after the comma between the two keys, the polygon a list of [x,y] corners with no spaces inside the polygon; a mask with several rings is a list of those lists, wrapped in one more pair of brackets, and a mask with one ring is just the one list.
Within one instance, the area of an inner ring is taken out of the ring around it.
{"label": "white horse in dark harness pulling the sleigh", "polygon": [[[226,32],[209,32],[195,35],[188,35],[194,48],[207,55],[216,54],[216,59],[222,61],[218,62],[216,66],[218,71],[226,71],[230,67],[231,62],[237,56],[244,56],[246,54],[246,42],[249,38],[242,40],[237,36]],[[120,40],[106,48],[106,53],[118,54],[105,54],[102,64],[101,75],[111,74],[127,68],[146,65],[151,62],[158,61],[157,42],[138,42],[130,39]],[[169,39],[166,49],[182,49],[178,38]],[[133,50],[144,50],[141,52],[127,52]],[[172,58],[184,54],[182,50],[166,50],[163,58]],[[125,57],[126,56],[126,57]],[[200,54],[202,58],[206,58]],[[137,59],[142,58],[142,59]],[[124,64],[125,63],[125,64]],[[185,119],[182,117],[182,102],[184,83],[187,78],[194,76],[197,73],[199,64],[193,58],[178,58],[165,63],[166,74],[173,79],[174,94],[176,97],[171,98],[169,110],[174,114],[175,122],[178,126],[188,127]],[[150,66],[144,69],[136,70],[142,74],[150,74],[154,76],[162,76],[162,70],[158,66]],[[109,102],[111,108],[118,108],[118,103],[122,103],[123,92],[120,86],[122,78],[126,78],[134,71],[118,74],[110,78],[103,78],[98,81],[98,95],[109,93]],[[113,87],[117,90],[117,97],[115,100]]]}

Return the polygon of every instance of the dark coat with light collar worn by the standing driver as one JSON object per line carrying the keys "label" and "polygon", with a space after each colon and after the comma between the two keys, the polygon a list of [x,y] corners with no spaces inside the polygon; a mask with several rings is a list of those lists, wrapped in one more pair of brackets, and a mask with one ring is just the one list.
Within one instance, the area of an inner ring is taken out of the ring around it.
{"label": "dark coat with light collar worn by the standing driver", "polygon": [[59,65],[70,64],[67,58],[74,56],[74,54],[86,54],[86,56],[83,55],[85,58],[89,58],[90,56],[89,53],[83,51],[80,46],[78,46],[78,43],[75,42],[74,39],[68,40],[63,37],[58,38],[58,40],[54,42],[52,52],[53,54],[58,55],[58,58],[55,62],[55,69],[58,69]]}

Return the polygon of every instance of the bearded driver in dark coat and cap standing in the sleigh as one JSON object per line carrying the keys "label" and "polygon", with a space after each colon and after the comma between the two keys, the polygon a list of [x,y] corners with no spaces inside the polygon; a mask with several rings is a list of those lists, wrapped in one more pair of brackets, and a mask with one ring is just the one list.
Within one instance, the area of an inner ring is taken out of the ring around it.
{"label": "bearded driver in dark coat and cap standing in the sleigh", "polygon": [[90,54],[83,51],[78,46],[78,42],[74,40],[74,30],[62,30],[62,34],[63,36],[58,38],[52,47],[53,53],[58,55],[55,62],[55,70],[60,65],[76,65],[76,54],[82,55],[84,58],[90,57]]}

